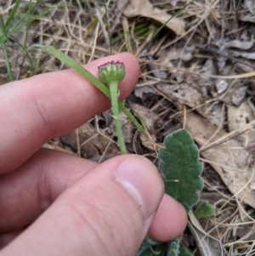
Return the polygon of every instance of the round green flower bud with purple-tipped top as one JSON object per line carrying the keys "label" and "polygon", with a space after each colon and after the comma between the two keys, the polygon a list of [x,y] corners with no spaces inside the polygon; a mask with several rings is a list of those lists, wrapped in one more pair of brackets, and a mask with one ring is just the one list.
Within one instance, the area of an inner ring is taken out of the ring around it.
{"label": "round green flower bud with purple-tipped top", "polygon": [[110,84],[111,82],[121,82],[126,76],[125,65],[121,61],[106,62],[99,65],[99,78],[102,82]]}

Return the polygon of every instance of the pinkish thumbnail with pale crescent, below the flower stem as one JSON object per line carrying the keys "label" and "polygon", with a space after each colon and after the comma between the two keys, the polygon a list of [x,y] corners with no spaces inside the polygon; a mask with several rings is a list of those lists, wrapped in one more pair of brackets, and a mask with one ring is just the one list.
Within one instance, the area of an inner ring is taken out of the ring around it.
{"label": "pinkish thumbnail with pale crescent, below the flower stem", "polygon": [[164,185],[152,162],[141,156],[130,156],[116,169],[116,180],[133,196],[146,219],[156,212]]}

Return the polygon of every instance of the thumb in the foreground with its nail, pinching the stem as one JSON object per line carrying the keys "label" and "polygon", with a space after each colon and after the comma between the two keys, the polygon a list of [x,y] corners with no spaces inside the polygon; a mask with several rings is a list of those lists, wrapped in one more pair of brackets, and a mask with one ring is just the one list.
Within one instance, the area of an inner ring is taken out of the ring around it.
{"label": "thumb in the foreground with its nail, pinching the stem", "polygon": [[116,156],[78,179],[2,253],[134,255],[163,193],[150,161]]}

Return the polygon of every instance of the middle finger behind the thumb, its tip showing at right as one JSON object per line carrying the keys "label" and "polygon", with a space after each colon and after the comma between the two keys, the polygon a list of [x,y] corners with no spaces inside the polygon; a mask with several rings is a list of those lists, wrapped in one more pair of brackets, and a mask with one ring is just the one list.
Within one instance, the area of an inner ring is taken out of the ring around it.
{"label": "middle finger behind the thumb, its tip showing at right", "polygon": [[[97,166],[98,163],[77,156],[41,149],[20,168],[3,174],[0,179],[0,233],[31,224],[63,191]],[[157,241],[169,241],[179,236],[186,224],[183,206],[164,195],[149,233]]]}

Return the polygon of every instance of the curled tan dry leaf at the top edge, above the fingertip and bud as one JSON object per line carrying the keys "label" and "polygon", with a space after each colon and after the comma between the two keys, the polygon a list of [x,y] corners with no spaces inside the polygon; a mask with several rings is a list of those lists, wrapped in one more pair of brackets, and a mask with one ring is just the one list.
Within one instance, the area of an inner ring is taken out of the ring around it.
{"label": "curled tan dry leaf at the top edge, above the fingertip and bud", "polygon": [[[118,7],[122,6],[123,1],[124,0],[118,2]],[[167,10],[154,8],[149,0],[129,0],[124,9],[124,15],[127,17],[143,16],[161,24],[167,22],[171,17],[171,15],[167,14]],[[178,36],[184,35],[184,20],[173,18],[167,22],[166,26]]]}

